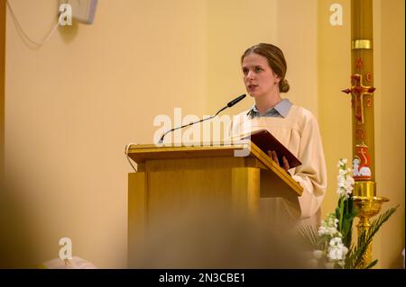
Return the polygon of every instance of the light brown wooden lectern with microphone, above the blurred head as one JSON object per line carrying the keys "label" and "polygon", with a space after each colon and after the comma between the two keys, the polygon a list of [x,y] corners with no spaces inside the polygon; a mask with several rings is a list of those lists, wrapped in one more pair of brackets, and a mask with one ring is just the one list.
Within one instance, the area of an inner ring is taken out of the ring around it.
{"label": "light brown wooden lectern with microphone, above the blurred head", "polygon": [[[235,157],[235,152],[245,157]],[[128,262],[153,220],[187,202],[229,202],[247,214],[262,197],[298,202],[302,187],[254,143],[203,146],[132,145],[137,172],[128,175]]]}

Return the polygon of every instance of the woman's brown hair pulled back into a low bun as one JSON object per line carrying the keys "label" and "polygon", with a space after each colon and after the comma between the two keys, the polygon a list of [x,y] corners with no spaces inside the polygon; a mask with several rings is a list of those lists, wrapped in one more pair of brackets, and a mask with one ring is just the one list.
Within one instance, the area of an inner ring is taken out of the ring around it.
{"label": "woman's brown hair pulled back into a low bun", "polygon": [[243,56],[241,57],[241,63],[243,63],[246,56],[252,53],[261,55],[268,60],[269,67],[272,68],[273,73],[281,77],[281,81],[279,82],[279,91],[281,93],[287,93],[291,86],[289,85],[288,80],[285,79],[286,70],[288,67],[281,49],[272,44],[259,43],[245,50]]}

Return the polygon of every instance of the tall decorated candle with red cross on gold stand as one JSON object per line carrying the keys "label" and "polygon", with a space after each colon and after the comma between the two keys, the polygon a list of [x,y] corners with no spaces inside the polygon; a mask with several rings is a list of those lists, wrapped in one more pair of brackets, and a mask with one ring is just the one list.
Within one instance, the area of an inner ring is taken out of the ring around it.
{"label": "tall decorated candle with red cross on gold stand", "polygon": [[[369,219],[381,211],[385,197],[376,196],[374,181],[374,53],[373,0],[351,0],[351,94],[353,119],[353,200],[359,222],[358,237],[368,232]],[[362,265],[371,263],[372,244]]]}

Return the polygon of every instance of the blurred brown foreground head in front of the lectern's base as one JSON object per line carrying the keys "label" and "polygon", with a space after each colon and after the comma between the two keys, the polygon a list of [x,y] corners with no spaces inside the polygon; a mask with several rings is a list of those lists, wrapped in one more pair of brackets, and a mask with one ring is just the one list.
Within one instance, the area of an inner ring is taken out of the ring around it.
{"label": "blurred brown foreground head in front of the lectern's base", "polygon": [[165,211],[129,249],[129,268],[306,267],[291,223],[275,222],[221,204]]}

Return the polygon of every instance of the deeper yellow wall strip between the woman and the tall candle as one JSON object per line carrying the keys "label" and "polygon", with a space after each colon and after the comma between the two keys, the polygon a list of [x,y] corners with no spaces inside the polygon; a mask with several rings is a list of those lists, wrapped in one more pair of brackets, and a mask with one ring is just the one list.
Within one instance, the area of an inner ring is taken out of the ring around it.
{"label": "deeper yellow wall strip between the woman and the tall candle", "polygon": [[326,165],[328,191],[322,206],[323,217],[337,207],[337,162],[352,157],[351,100],[340,92],[348,87],[351,75],[350,0],[343,6],[343,25],[329,22],[332,0],[318,1],[318,109]]}

